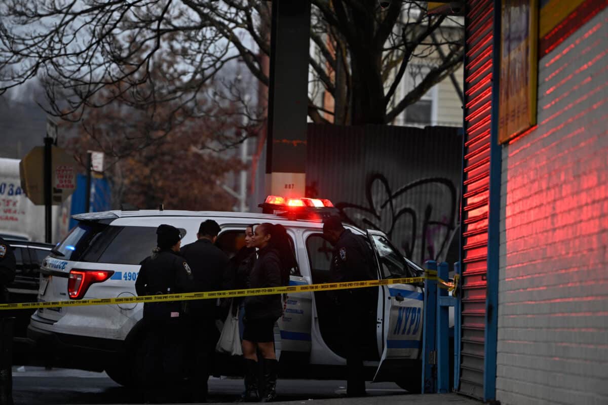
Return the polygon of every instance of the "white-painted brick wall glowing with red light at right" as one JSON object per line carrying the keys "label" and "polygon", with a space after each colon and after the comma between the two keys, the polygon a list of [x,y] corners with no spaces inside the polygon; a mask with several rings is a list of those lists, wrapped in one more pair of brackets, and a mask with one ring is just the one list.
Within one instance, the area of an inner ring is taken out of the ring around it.
{"label": "white-painted brick wall glowing with red light at right", "polygon": [[503,148],[496,398],[608,403],[608,9],[539,61]]}

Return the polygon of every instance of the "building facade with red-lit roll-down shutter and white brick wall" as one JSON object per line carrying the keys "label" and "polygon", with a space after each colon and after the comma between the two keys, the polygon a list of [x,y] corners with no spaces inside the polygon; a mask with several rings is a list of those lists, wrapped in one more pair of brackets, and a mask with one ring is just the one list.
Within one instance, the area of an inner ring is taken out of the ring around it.
{"label": "building facade with red-lit roll-down shutter and white brick wall", "polygon": [[502,92],[517,87],[497,80],[505,3],[516,2],[469,1],[466,17],[455,389],[501,404],[606,404],[608,1],[519,2],[537,12],[536,123],[499,141]]}

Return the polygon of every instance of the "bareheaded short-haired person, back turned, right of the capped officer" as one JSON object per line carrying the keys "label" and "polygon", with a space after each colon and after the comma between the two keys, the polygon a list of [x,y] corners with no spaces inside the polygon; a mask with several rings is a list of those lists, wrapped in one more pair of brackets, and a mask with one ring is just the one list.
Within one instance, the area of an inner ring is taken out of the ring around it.
{"label": "bareheaded short-haired person, back turned, right of the capped officer", "polygon": [[[215,246],[219,225],[208,219],[201,223],[196,242],[185,245],[181,254],[192,268],[194,280],[190,291],[218,291],[222,289],[224,273],[228,267],[228,256]],[[213,299],[200,299],[187,303],[188,335],[195,349],[190,367],[190,389],[193,400],[206,401],[207,381],[212,370],[213,352],[219,338],[215,319],[218,317]]]}

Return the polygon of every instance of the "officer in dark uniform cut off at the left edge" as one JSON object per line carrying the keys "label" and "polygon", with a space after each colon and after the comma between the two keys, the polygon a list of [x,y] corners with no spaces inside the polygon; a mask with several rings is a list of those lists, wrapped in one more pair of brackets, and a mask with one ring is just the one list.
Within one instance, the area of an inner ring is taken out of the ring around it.
{"label": "officer in dark uniform cut off at the left edge", "polygon": [[[9,302],[9,290],[6,287],[15,279],[16,271],[17,262],[13,248],[0,237],[0,304]],[[0,404],[13,403],[12,356],[8,355],[10,347],[4,346],[10,345],[13,335],[14,318],[7,318],[9,316],[12,316],[11,312],[0,310]]]}

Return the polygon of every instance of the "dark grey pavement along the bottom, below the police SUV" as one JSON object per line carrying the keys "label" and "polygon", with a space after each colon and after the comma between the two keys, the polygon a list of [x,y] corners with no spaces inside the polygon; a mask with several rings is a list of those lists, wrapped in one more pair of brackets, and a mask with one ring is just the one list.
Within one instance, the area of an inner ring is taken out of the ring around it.
{"label": "dark grey pavement along the bottom, below the police SUV", "polygon": [[[237,400],[243,389],[240,378],[214,378],[209,381],[207,404],[227,404]],[[368,395],[346,398],[344,381],[280,379],[278,400],[284,405],[481,405],[480,401],[455,393],[413,395],[395,383],[367,383]],[[16,405],[134,405],[140,393],[120,387],[106,373],[44,367],[13,367],[13,398]],[[283,399],[283,401],[281,401]],[[165,405],[168,405],[165,404]]]}

